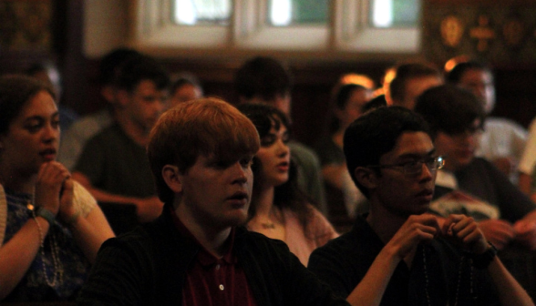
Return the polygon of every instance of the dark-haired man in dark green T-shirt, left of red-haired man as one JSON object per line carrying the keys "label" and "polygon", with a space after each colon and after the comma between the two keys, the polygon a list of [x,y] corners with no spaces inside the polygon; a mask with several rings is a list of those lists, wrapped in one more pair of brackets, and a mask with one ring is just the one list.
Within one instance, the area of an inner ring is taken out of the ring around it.
{"label": "dark-haired man in dark green T-shirt, left of red-haired man", "polygon": [[145,151],[150,129],[167,108],[169,80],[153,58],[129,57],[115,81],[115,123],[88,141],[73,171],[99,202],[134,204],[142,223],[156,219],[163,207]]}

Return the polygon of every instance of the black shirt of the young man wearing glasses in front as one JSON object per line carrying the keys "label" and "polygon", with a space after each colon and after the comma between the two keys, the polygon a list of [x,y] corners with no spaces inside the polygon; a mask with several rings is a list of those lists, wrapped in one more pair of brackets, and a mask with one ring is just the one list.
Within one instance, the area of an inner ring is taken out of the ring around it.
{"label": "black shirt of the young man wearing glasses in front", "polygon": [[[314,250],[308,269],[331,285],[335,294],[346,298],[363,280],[384,246],[366,220],[358,217],[350,232]],[[498,305],[499,301],[489,274],[472,269],[460,250],[438,238],[418,246],[411,268],[400,261],[380,305],[447,303]]]}

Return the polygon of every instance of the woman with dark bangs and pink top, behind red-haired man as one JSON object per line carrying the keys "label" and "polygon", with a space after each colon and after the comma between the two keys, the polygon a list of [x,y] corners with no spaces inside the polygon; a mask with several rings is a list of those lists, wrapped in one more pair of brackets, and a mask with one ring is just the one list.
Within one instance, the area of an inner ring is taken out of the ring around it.
{"label": "woman with dark bangs and pink top, behind red-haired man", "polygon": [[307,265],[314,249],[338,235],[297,187],[296,168],[287,146],[289,121],[269,105],[246,103],[238,109],[253,121],[261,138],[261,148],[253,158],[255,180],[247,228],[284,241]]}

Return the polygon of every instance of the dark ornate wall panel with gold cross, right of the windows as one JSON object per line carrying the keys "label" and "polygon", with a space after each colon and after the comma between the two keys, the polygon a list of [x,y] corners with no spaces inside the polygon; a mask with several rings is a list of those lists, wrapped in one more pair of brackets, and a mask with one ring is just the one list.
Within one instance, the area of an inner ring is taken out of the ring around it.
{"label": "dark ornate wall panel with gold cross, right of the windows", "polygon": [[426,0],[423,54],[445,63],[459,55],[502,65],[536,65],[536,2]]}

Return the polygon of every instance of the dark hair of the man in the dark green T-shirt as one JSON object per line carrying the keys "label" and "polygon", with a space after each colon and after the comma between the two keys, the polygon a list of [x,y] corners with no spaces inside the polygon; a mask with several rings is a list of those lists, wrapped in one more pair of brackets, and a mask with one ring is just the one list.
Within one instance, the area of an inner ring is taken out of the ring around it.
{"label": "dark hair of the man in the dark green T-shirt", "polygon": [[143,80],[154,82],[158,89],[170,85],[170,76],[154,58],[149,56],[132,56],[119,66],[119,73],[115,85],[132,92]]}

